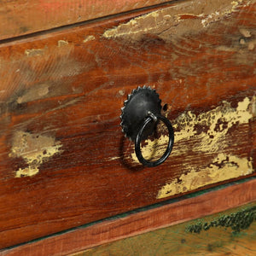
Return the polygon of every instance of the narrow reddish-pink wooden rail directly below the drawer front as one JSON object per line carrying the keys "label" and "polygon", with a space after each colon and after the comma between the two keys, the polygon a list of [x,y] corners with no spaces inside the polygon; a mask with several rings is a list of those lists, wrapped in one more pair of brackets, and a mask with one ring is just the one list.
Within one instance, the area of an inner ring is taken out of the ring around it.
{"label": "narrow reddish-pink wooden rail directly below the drawer front", "polygon": [[[225,189],[173,202],[146,212],[137,212],[126,217],[102,221],[102,223],[85,228],[81,227],[41,241],[3,250],[0,254],[9,256],[67,255],[83,251],[111,241],[118,241],[130,236],[138,236],[149,231],[181,224],[191,219],[204,218],[207,215],[224,212],[233,207],[241,207],[256,201],[255,185],[256,180],[254,179],[247,183],[236,184]],[[184,233],[181,234],[181,236],[183,235]]]}

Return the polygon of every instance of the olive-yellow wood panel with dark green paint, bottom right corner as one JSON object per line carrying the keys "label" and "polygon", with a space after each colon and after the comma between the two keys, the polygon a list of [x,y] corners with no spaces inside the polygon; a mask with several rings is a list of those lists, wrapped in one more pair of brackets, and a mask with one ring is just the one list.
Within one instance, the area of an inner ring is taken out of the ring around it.
{"label": "olive-yellow wood panel with dark green paint, bottom right corner", "polygon": [[72,255],[254,256],[255,240],[256,204],[253,204]]}

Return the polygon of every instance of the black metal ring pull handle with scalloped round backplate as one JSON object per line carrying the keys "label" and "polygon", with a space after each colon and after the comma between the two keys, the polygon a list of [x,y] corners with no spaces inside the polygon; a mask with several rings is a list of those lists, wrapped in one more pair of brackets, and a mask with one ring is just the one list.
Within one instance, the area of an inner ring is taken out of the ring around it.
{"label": "black metal ring pull handle with scalloped round backplate", "polygon": [[[135,142],[135,152],[137,159],[143,166],[154,167],[162,164],[172,152],[174,143],[174,132],[171,122],[166,117],[161,115],[161,104],[159,95],[150,87],[138,87],[137,90],[132,90],[131,95],[125,101],[125,106],[122,108],[121,126],[125,137],[129,137]],[[156,123],[162,121],[169,133],[169,142],[165,153],[159,160],[150,161],[143,157],[141,143],[149,135],[154,133]]]}

